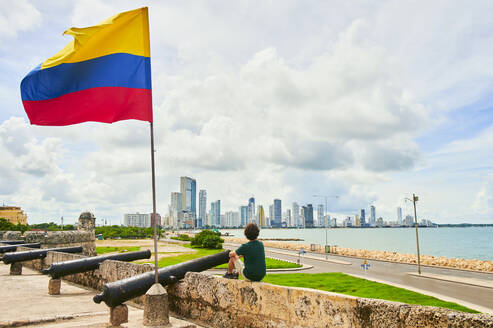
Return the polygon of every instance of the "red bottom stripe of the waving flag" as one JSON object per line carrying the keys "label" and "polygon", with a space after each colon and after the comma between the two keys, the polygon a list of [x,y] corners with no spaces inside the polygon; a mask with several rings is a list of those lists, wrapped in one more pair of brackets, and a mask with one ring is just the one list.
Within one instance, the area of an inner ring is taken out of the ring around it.
{"label": "red bottom stripe of the waving flag", "polygon": [[152,90],[149,89],[91,88],[22,103],[29,121],[35,125],[113,123],[131,119],[152,122]]}

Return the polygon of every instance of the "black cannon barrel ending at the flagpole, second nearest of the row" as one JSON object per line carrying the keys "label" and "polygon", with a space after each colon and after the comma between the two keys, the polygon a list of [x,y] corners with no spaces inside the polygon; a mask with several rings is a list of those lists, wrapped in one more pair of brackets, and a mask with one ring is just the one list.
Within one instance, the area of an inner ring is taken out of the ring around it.
{"label": "black cannon barrel ending at the flagpole, second nearest of the row", "polygon": [[148,259],[150,257],[150,250],[93,256],[84,259],[53,263],[49,268],[42,270],[42,272],[44,274],[49,274],[53,279],[58,279],[63,276],[68,276],[69,274],[96,270],[99,268],[99,265],[106,260],[129,262],[140,259]]}

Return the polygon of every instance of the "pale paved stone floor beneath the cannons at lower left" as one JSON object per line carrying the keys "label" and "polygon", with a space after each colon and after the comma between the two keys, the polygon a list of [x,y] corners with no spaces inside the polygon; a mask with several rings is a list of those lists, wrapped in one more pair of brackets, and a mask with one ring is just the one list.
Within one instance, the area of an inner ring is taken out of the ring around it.
{"label": "pale paved stone floor beneath the cannons at lower left", "polygon": [[[49,277],[28,268],[21,276],[9,275],[9,265],[0,264],[0,328],[6,327],[106,327],[109,308],[96,304],[95,292],[62,280],[60,295],[48,295]],[[122,327],[142,327],[143,311],[128,306],[129,323]],[[176,325],[182,320],[170,317]]]}

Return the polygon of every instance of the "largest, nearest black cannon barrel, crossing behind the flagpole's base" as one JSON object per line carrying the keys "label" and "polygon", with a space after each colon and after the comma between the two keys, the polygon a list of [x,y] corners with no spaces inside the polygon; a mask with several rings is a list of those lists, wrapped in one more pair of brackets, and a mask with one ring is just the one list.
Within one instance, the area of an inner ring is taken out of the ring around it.
{"label": "largest, nearest black cannon barrel, crossing behind the flagpole's base", "polygon": [[[201,272],[229,261],[229,250],[204,256],[187,262],[170,265],[158,270],[159,283],[168,285],[183,279],[187,272]],[[154,270],[130,278],[107,283],[103,292],[93,297],[93,301],[104,301],[109,307],[115,307],[134,297],[144,295],[155,282]]]}

